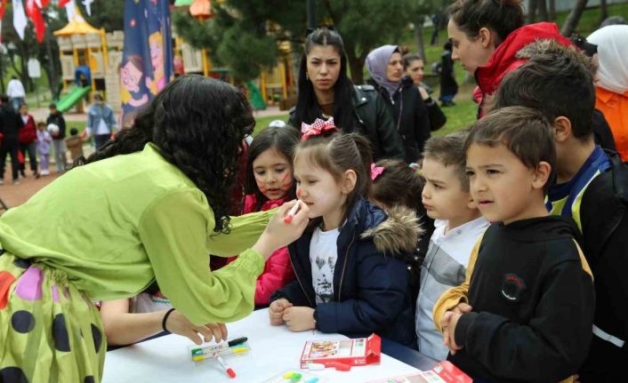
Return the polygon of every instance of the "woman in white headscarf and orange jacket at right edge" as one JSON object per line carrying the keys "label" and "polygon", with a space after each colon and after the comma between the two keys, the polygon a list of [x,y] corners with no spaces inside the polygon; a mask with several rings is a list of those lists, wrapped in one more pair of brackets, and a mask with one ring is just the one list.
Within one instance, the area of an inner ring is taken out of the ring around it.
{"label": "woman in white headscarf and orange jacket at right edge", "polygon": [[617,152],[628,162],[628,25],[600,28],[587,38],[598,45],[595,108],[606,117]]}

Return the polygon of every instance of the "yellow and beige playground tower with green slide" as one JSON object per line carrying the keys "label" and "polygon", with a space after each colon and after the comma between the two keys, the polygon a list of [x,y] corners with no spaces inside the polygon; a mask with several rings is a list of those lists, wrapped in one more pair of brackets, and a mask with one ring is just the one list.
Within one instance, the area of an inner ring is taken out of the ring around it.
{"label": "yellow and beige playground tower with green slide", "polygon": [[79,113],[83,112],[84,98],[91,100],[93,92],[103,92],[111,107],[119,111],[118,68],[124,33],[93,28],[76,6],[69,19],[68,25],[54,32],[59,44],[63,90],[68,92],[57,102],[57,108],[65,112],[76,106]]}

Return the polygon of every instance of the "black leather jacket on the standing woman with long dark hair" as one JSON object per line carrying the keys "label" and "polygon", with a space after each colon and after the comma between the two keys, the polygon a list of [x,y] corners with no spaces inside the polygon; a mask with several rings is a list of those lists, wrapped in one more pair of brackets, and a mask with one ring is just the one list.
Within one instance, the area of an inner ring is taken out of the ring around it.
{"label": "black leather jacket on the standing woman with long dark hair", "polygon": [[[385,101],[371,85],[354,85],[354,89],[351,104],[355,118],[352,126],[339,126],[342,132],[358,132],[364,135],[371,142],[374,161],[382,158],[404,159],[401,138],[396,132],[395,123]],[[301,129],[302,122],[313,123],[296,121],[294,111],[295,108],[290,110],[288,124]],[[323,116],[319,118],[323,119]]]}

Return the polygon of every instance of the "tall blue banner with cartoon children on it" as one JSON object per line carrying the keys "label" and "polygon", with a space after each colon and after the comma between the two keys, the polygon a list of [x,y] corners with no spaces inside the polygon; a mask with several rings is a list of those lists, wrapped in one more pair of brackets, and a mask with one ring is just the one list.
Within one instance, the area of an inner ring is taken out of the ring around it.
{"label": "tall blue banner with cartoon children on it", "polygon": [[168,0],[125,2],[125,50],[120,68],[122,126],[133,125],[173,76],[173,39]]}

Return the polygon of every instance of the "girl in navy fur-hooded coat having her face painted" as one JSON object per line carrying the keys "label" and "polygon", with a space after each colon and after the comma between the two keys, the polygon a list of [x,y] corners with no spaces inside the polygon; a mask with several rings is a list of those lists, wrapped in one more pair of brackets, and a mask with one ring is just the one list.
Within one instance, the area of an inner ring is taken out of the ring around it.
{"label": "girl in navy fur-hooded coat having her face painted", "polygon": [[415,251],[416,218],[396,222],[366,201],[371,146],[336,130],[332,118],[302,126],[294,180],[311,221],[288,245],[297,280],[271,297],[270,323],[291,331],[377,332],[412,345],[406,264]]}

